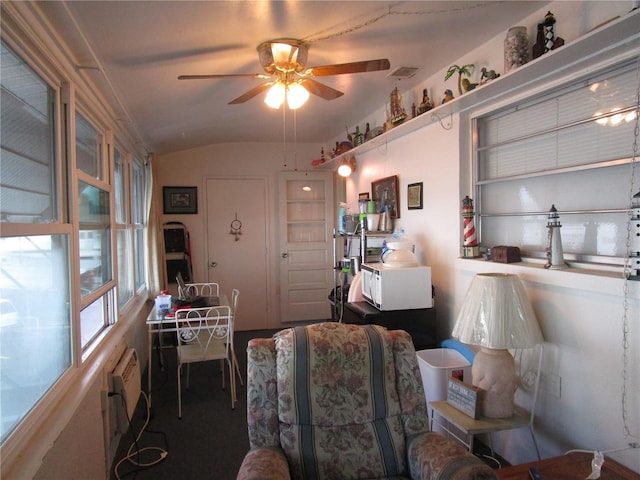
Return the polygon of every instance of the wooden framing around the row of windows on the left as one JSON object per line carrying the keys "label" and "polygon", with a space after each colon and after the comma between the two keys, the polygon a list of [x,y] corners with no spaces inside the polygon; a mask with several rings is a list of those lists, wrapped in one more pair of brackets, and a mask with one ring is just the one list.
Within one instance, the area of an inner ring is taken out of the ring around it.
{"label": "wooden framing around the row of windows on the left", "polygon": [[[6,8],[5,8],[6,7]],[[69,325],[70,325],[70,350],[71,362],[59,378],[54,380],[33,408],[21,419],[15,429],[0,444],[0,457],[3,459],[2,471],[19,470],[35,474],[39,460],[42,459],[50,448],[50,445],[58,438],[68,423],[68,418],[77,409],[86,394],[91,391],[96,380],[102,378],[105,365],[113,361],[113,353],[122,345],[122,333],[125,328],[133,329],[145,302],[148,300],[148,279],[143,279],[142,287],[134,292],[134,301],[129,302],[126,309],[113,311],[115,318],[122,319],[120,325],[112,325],[103,330],[92,343],[92,348],[84,352],[79,348],[79,261],[78,261],[78,215],[77,215],[77,181],[79,176],[75,172],[75,162],[71,160],[73,155],[73,115],[76,105],[80,104],[80,110],[92,120],[100,118],[99,122],[104,126],[111,126],[127,139],[127,152],[133,152],[138,156],[141,153],[135,146],[133,133],[122,130],[116,118],[111,117],[109,109],[105,108],[103,99],[96,97],[93,90],[82,81],[77,72],[64,61],[53,56],[51,52],[42,49],[42,43],[29,29],[25,29],[24,20],[19,9],[11,4],[2,5],[3,15],[1,39],[11,48],[15,54],[31,68],[48,86],[53,89],[53,101],[55,111],[53,114],[54,127],[54,161],[55,161],[55,190],[57,192],[55,210],[57,219],[51,223],[3,223],[2,237],[24,237],[37,235],[62,235],[67,241],[67,254],[69,256],[68,282],[69,282]],[[4,15],[7,13],[7,15]],[[84,92],[87,92],[84,95]],[[95,116],[88,112],[102,112]],[[111,141],[112,132],[105,128],[107,136],[105,144],[107,148]],[[71,139],[71,141],[70,141]],[[109,151],[103,159],[105,169],[104,181],[101,188],[107,185],[111,188],[113,181],[110,179],[113,165]],[[131,153],[128,153],[131,155]],[[148,170],[143,171],[149,175]],[[150,179],[145,188],[148,188]],[[113,193],[110,193],[113,202]],[[111,258],[113,279],[111,285],[104,287],[96,293],[96,296],[113,295],[117,286],[116,257],[113,253],[115,245],[114,210],[111,209]],[[146,224],[142,227],[146,232]],[[147,259],[145,256],[144,262]],[[110,287],[113,287],[110,289]],[[135,327],[137,329],[137,327]],[[116,334],[116,332],[120,334]],[[89,361],[90,360],[90,361]],[[52,412],[54,412],[52,414]],[[38,441],[33,439],[38,437]]]}

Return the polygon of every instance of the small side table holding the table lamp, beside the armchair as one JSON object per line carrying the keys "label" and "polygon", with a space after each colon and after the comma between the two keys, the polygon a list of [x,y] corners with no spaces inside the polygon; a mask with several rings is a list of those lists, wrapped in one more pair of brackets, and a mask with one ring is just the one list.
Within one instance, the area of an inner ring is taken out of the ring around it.
{"label": "small side table holding the table lamp, beside the armchair", "polygon": [[[531,419],[529,413],[525,410],[522,410],[516,407],[513,416],[509,418],[487,418],[480,417],[477,420],[471,418],[469,415],[462,413],[455,407],[449,405],[446,400],[441,400],[438,402],[429,403],[429,407],[431,408],[431,427],[433,429],[433,422],[437,423],[442,427],[447,433],[460,441],[463,445],[465,445],[470,452],[473,452],[473,436],[479,433],[488,433],[489,434],[489,447],[491,448],[491,453],[493,454],[493,445],[491,444],[491,432],[498,432],[500,430],[512,430],[514,428],[522,428],[529,427],[529,433],[531,433],[531,438],[533,440],[533,444],[536,447],[536,453],[538,454],[538,458],[540,458],[540,452],[538,451],[538,444],[536,443],[536,438],[533,435],[533,430],[531,429]],[[443,419],[448,422],[451,422],[458,429],[460,429],[464,434],[465,438],[460,438],[456,433],[452,432],[447,425],[443,425],[442,422],[439,422],[435,419],[435,413],[438,413]]]}

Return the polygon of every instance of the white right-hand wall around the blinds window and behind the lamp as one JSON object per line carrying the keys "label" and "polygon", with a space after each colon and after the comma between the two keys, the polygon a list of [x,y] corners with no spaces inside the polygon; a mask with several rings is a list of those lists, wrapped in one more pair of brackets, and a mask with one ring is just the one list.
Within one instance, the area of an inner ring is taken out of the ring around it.
{"label": "white right-hand wall around the blinds window and behind the lamp", "polygon": [[[555,2],[550,9],[558,19],[556,34],[569,42],[605,20],[625,14],[631,9],[631,2]],[[522,24],[529,32],[535,32],[546,11],[545,8],[539,15],[524,19]],[[487,66],[501,71],[502,40],[497,37],[451,63],[474,63],[477,69]],[[413,92],[403,92],[405,105],[418,103],[425,87],[436,103],[444,88],[455,91],[454,79],[444,83],[445,72],[442,70]],[[434,123],[383,147],[357,154],[358,169],[347,181],[350,208],[357,210],[357,194],[370,191],[371,181],[399,176],[401,218],[397,226],[416,241],[421,259],[433,268],[441,338],[450,336],[473,275],[504,271],[515,273],[524,281],[546,340],[536,420],[543,458],[575,448],[608,451],[627,447],[640,435],[640,282],[628,285],[626,315],[631,331],[625,351],[622,279],[459,259],[461,199],[472,196],[470,128],[467,115],[443,120],[445,126],[451,120],[450,130]],[[362,119],[366,121],[372,119]],[[424,183],[424,208],[409,211],[406,189],[414,182]],[[624,355],[628,364],[627,427],[635,438],[625,435],[622,420]],[[560,376],[559,398],[548,387],[551,374]],[[500,432],[493,441],[496,451],[512,463],[535,460],[526,429]],[[640,450],[611,453],[611,457],[640,472]]]}

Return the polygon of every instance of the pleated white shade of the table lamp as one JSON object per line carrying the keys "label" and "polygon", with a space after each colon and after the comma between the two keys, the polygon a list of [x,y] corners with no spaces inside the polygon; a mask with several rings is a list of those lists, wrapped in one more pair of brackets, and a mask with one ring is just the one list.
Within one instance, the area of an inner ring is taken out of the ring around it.
{"label": "pleated white shade of the table lamp", "polygon": [[522,282],[502,273],[473,278],[452,336],[492,349],[529,348],[544,341]]}

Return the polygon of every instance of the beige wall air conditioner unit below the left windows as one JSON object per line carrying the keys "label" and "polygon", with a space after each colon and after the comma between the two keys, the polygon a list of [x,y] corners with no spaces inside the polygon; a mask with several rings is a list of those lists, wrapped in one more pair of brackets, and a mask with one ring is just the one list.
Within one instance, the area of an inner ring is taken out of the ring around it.
{"label": "beige wall air conditioner unit below the left windows", "polygon": [[[121,432],[129,428],[129,419],[140,397],[140,363],[134,348],[128,348],[112,373],[112,392],[118,405],[118,426]],[[119,397],[119,398],[118,398]]]}

